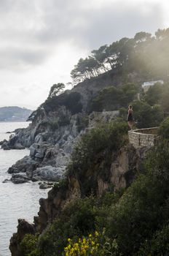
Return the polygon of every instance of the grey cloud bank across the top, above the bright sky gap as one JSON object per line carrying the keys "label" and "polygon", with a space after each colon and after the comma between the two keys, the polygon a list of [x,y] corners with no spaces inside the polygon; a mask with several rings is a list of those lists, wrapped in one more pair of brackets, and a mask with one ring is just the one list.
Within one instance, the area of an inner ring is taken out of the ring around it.
{"label": "grey cloud bank across the top, above the bright sky gap", "polygon": [[0,69],[39,66],[64,42],[93,50],[162,25],[156,1],[1,0],[0,12]]}

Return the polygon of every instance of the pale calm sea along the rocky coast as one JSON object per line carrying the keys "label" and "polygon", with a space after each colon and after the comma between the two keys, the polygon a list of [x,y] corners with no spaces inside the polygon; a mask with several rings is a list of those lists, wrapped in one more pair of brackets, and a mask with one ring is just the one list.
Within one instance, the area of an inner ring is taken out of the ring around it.
{"label": "pale calm sea along the rocky coast", "polygon": [[[0,141],[9,139],[7,132],[25,127],[28,127],[28,122],[0,122]],[[4,151],[0,148],[0,256],[11,255],[9,239],[17,231],[17,219],[33,222],[39,211],[39,199],[46,198],[49,191],[39,189],[37,182],[2,182],[11,178],[8,168],[26,155],[29,155],[28,149]]]}

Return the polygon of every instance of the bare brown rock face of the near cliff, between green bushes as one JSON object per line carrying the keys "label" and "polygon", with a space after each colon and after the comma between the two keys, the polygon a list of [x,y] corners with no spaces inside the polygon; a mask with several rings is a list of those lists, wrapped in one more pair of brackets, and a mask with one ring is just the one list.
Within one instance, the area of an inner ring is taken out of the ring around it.
{"label": "bare brown rock face of the near cliff, between green bushes", "polygon": [[[89,186],[95,184],[95,187],[92,188],[90,186],[90,189],[93,189],[93,192],[98,196],[101,196],[103,192],[112,186],[115,189],[128,187],[135,179],[135,176],[141,172],[141,163],[148,150],[149,148],[135,149],[132,145],[128,144],[122,147],[116,155],[112,154],[111,167],[106,174],[106,181],[98,173],[98,167],[102,165],[102,162],[95,162],[93,170],[87,170],[83,175],[68,176],[66,181],[63,181],[60,186],[55,186],[48,192],[47,199],[41,198],[39,200],[38,217],[34,217],[34,232],[43,233],[68,203],[76,198],[86,196],[88,193],[86,189],[87,184]],[[20,241],[22,241],[25,233],[29,233],[27,225],[25,227],[25,231],[22,230],[20,232],[21,227],[19,223],[17,233],[13,234],[11,238],[10,250],[12,256],[20,255]]]}

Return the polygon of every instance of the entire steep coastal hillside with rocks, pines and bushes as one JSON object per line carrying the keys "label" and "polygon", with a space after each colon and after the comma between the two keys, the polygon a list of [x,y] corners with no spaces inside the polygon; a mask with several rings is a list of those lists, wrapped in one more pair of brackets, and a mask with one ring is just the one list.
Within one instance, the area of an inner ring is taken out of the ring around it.
{"label": "entire steep coastal hillside with rocks, pines and bushes", "polygon": [[[95,51],[97,69],[81,59],[72,72],[80,83],[47,97],[29,116],[31,125],[1,146],[30,147],[9,168],[12,182],[54,183],[34,224],[19,220],[12,256],[168,255],[168,40],[168,29],[155,37],[140,32]],[[154,54],[155,45],[162,50]],[[164,83],[142,89],[157,78]],[[129,104],[135,127],[160,126],[153,148],[128,142]]]}

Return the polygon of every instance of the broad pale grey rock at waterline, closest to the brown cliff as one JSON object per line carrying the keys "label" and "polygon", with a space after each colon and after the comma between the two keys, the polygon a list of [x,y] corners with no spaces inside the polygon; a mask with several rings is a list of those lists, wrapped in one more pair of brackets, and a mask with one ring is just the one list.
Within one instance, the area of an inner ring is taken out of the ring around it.
{"label": "broad pale grey rock at waterline, closest to the brown cliff", "polygon": [[52,167],[47,165],[44,167],[38,167],[33,172],[33,178],[36,180],[45,180],[45,181],[58,181],[60,178],[63,178],[64,170],[60,167]]}

